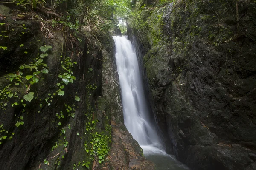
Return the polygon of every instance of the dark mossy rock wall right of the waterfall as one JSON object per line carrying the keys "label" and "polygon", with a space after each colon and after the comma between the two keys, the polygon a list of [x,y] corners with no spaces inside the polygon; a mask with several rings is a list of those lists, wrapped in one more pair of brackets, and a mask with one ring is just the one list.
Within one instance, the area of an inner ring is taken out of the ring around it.
{"label": "dark mossy rock wall right of the waterfall", "polygon": [[231,1],[170,3],[129,21],[166,146],[193,170],[255,169],[255,5],[238,4],[239,27]]}

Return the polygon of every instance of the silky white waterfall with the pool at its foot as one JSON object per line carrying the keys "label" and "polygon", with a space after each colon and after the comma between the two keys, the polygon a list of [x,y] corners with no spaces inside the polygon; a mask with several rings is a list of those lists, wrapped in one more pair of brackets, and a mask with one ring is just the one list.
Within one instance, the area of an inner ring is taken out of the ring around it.
{"label": "silky white waterfall with the pool at its foot", "polygon": [[140,69],[131,41],[125,36],[114,36],[113,39],[126,128],[143,148],[145,157],[153,161],[158,170],[186,170],[185,165],[165,152],[157,134],[156,123],[146,104]]}

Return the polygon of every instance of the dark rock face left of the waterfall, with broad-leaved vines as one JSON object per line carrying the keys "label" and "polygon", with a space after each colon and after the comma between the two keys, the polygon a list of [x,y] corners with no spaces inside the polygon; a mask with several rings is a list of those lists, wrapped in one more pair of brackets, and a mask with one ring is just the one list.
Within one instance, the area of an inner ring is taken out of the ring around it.
{"label": "dark rock face left of the waterfall, with broad-leaved vines", "polygon": [[[1,13],[2,9],[6,12]],[[38,74],[39,82],[30,89],[36,93],[31,102],[23,101],[26,104],[24,107],[20,102],[26,94],[25,85],[29,84],[26,79],[23,79],[24,85],[9,88],[11,92],[17,92],[17,99],[2,98],[0,95],[0,170],[71,170],[74,167],[81,170],[85,164],[94,170],[116,170],[120,164],[124,170],[154,168],[142,156],[141,148],[123,125],[111,35],[99,36],[101,38],[97,40],[90,32],[84,31],[76,34],[81,42],[72,40],[72,45],[67,43],[63,48],[65,40],[61,32],[52,31],[53,38],[48,41],[39,31],[39,20],[15,22],[10,11],[6,6],[0,6],[0,13],[6,17],[3,22],[7,20],[14,28],[8,41],[2,41],[4,37],[0,37],[0,46],[7,47],[6,50],[0,49],[0,92],[12,84],[6,79],[6,74],[19,70],[20,64],[35,61],[42,45],[51,45],[52,50],[47,51],[48,55],[44,58],[49,74]],[[6,29],[6,25],[0,27],[1,31]],[[24,36],[23,30],[26,30]],[[71,34],[70,31],[67,39]],[[99,48],[99,41],[102,48]],[[72,58],[67,61],[69,64],[77,62],[73,68],[70,67],[76,79],[64,86],[64,96],[58,96],[57,83],[62,81],[58,75],[68,72],[62,69],[67,57]],[[14,73],[17,72],[21,71]],[[24,69],[23,75],[27,72]],[[75,96],[80,97],[79,102]],[[15,126],[21,120],[24,125]],[[93,156],[96,145],[92,143],[96,139],[105,143],[102,148],[108,149],[109,153],[109,156],[104,156],[102,164],[99,164],[97,156]],[[123,159],[118,159],[116,153],[123,155]],[[129,162],[137,163],[129,165]]]}

